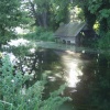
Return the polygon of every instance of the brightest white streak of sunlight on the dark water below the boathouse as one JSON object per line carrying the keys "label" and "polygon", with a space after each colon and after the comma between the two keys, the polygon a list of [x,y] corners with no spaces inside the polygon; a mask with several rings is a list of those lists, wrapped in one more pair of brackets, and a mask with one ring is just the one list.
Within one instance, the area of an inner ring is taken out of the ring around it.
{"label": "brightest white streak of sunlight on the dark water below the boathouse", "polygon": [[79,56],[80,55],[76,54],[75,52],[69,52],[68,54],[64,54],[62,56],[62,63],[64,64],[67,73],[65,74],[65,79],[68,87],[72,88],[76,87],[77,82],[80,81],[79,77],[82,76],[81,68],[79,68],[79,65],[82,63],[82,61],[79,59]]}

